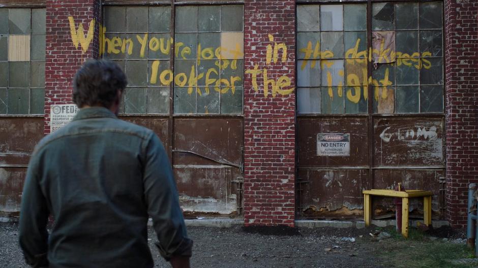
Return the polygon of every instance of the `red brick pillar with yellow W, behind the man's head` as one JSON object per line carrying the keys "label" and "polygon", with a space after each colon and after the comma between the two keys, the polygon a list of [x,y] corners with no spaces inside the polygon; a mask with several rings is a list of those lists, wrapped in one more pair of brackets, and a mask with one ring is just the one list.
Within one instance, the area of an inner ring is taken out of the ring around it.
{"label": "red brick pillar with yellow W, behind the man's head", "polygon": [[46,0],[45,134],[50,106],[72,103],[73,77],[86,59],[98,57],[100,14],[99,0]]}

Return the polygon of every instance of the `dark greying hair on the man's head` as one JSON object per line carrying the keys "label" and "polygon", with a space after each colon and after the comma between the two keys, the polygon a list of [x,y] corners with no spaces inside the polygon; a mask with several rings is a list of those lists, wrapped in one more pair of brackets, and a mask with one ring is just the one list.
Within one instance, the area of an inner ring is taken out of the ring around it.
{"label": "dark greying hair on the man's head", "polygon": [[79,107],[110,108],[117,90],[123,92],[128,81],[119,66],[105,59],[90,59],[76,73],[73,81],[73,102]]}

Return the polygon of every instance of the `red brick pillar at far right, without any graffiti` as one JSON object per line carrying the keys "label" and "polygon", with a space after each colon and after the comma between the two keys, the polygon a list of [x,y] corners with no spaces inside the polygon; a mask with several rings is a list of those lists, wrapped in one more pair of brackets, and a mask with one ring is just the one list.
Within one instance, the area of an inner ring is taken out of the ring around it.
{"label": "red brick pillar at far right, without any graffiti", "polygon": [[463,227],[468,184],[478,182],[478,2],[444,3],[446,217]]}

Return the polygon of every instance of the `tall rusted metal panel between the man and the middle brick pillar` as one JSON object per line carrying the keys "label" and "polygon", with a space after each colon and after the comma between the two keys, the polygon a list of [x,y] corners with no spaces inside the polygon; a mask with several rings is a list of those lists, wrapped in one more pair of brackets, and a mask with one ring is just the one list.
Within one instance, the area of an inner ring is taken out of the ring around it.
{"label": "tall rusted metal panel between the man and the middle brick pillar", "polygon": [[175,118],[173,168],[186,216],[236,215],[242,118]]}

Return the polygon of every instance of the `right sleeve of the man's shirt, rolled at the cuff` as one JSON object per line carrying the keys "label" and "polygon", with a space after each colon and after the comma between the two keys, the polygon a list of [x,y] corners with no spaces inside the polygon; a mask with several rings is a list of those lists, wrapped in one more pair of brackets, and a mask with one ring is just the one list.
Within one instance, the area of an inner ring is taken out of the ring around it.
{"label": "right sleeve of the man's shirt, rolled at the cuff", "polygon": [[191,256],[193,242],[188,238],[171,164],[159,138],[152,133],[145,148],[144,195],[153,219],[160,254]]}

